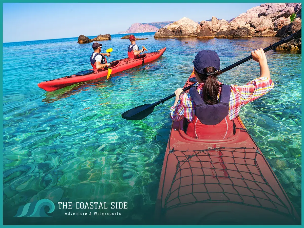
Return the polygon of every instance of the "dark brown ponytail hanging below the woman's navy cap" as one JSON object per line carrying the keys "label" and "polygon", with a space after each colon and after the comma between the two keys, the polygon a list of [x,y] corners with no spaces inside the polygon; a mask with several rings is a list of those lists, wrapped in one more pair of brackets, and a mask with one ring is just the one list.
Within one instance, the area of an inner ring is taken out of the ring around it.
{"label": "dark brown ponytail hanging below the woman's navy cap", "polygon": [[219,93],[219,83],[216,80],[217,72],[214,67],[206,67],[203,73],[194,70],[194,74],[204,82],[204,101],[208,105],[218,103],[217,95]]}

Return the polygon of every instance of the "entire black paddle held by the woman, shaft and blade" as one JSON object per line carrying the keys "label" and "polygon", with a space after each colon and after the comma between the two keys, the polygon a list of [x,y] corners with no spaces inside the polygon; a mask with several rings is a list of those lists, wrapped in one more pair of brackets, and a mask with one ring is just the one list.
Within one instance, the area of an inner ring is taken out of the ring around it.
{"label": "entire black paddle held by the woman, shaft and blade", "polygon": [[[296,39],[296,38],[300,38],[301,37],[301,31],[302,29],[300,29],[298,32],[291,34],[290,36],[287,36],[285,38],[283,38],[282,40],[278,41],[277,43],[274,43],[273,45],[270,44],[270,46],[264,48],[264,52],[269,51],[269,50],[274,50],[274,48],[278,47],[279,45],[283,44],[283,43],[287,43],[290,40]],[[144,47],[143,47],[144,48]],[[230,69],[232,69],[233,67],[236,67],[244,62],[247,62],[248,60],[252,59],[252,55],[228,66],[225,67],[223,70],[219,70],[219,74],[222,74],[226,71],[229,71]],[[193,85],[189,85],[186,88],[183,89],[183,91],[187,91],[188,89],[190,89]],[[160,103],[164,103],[164,101],[167,101],[171,98],[175,97],[175,94],[171,94],[170,96],[164,98],[164,99],[160,99],[159,101],[153,103],[153,104],[145,104],[145,105],[140,105],[137,106],[133,109],[130,109],[126,112],[124,112],[123,114],[121,114],[121,117],[123,117],[123,119],[130,119],[130,120],[140,120],[143,118],[146,118],[147,116],[149,116],[155,106],[159,105]]]}

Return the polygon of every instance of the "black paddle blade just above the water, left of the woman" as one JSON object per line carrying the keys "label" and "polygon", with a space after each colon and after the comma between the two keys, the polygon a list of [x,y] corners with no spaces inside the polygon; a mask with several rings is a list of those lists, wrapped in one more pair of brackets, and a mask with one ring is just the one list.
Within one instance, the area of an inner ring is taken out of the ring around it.
{"label": "black paddle blade just above the water, left of the woman", "polygon": [[153,112],[156,105],[156,103],[153,103],[137,106],[121,114],[121,117],[123,117],[123,119],[130,120],[140,120],[146,118]]}

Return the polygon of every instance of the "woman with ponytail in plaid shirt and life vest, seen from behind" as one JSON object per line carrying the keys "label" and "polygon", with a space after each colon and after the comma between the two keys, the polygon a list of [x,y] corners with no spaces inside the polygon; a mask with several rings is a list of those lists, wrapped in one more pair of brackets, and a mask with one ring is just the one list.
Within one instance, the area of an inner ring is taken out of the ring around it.
{"label": "woman with ponytail in plaid shirt and life vest, seen from behind", "polygon": [[[264,50],[251,52],[260,65],[260,77],[246,85],[224,85],[217,81],[220,60],[215,51],[201,50],[193,61],[195,83],[189,92],[182,88],[175,90],[175,102],[170,108],[174,121],[188,120],[187,135],[194,138],[208,139],[209,135],[218,135],[226,139],[233,135],[233,120],[240,109],[248,102],[254,101],[268,93],[274,87]],[[202,130],[203,129],[203,130]]]}

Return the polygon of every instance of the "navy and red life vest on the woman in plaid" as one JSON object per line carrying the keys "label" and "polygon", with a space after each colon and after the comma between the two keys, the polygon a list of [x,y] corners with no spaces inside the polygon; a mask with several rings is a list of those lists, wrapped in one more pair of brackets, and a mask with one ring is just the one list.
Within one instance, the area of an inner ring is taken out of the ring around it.
{"label": "navy and red life vest on the woman in plaid", "polygon": [[195,103],[194,119],[188,124],[187,135],[203,139],[226,139],[233,135],[233,121],[228,117],[230,85],[221,85],[219,102],[215,105],[207,105],[196,87],[189,90],[189,94]]}

